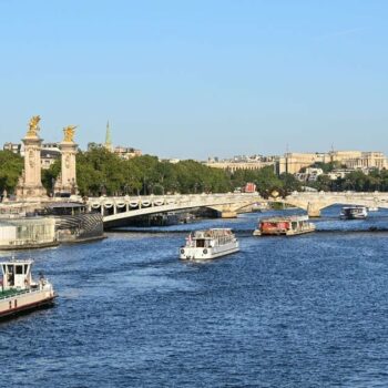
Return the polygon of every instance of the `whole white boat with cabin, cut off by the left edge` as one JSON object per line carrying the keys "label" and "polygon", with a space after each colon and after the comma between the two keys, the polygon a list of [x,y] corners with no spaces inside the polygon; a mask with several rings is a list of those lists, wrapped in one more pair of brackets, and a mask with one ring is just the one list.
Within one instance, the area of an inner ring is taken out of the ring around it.
{"label": "whole white boat with cabin, cut off by the left edge", "polygon": [[57,294],[52,284],[41,275],[35,282],[31,275],[32,259],[1,262],[0,319],[47,307]]}

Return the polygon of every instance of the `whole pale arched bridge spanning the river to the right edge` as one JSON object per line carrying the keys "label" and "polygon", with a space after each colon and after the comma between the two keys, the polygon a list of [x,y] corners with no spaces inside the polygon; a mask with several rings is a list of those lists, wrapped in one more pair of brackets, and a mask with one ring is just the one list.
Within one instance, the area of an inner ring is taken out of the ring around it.
{"label": "whole pale arched bridge spanning the river to the right edge", "polygon": [[264,200],[258,193],[238,194],[188,194],[188,195],[150,195],[91,197],[88,200],[90,211],[100,212],[106,228],[125,225],[129,218],[198,207],[207,207],[221,213],[223,217],[234,217],[238,212],[253,204],[280,202],[303,208],[310,217],[319,217],[325,207],[341,205],[360,205],[388,208],[388,193],[308,193],[294,192],[285,198]]}

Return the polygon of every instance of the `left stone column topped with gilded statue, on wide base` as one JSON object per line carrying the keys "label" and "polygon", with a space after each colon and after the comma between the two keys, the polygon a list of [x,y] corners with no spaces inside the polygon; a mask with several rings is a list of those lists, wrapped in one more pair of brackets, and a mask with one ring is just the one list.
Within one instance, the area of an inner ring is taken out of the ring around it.
{"label": "left stone column topped with gilded statue, on wide base", "polygon": [[39,121],[40,116],[30,120],[30,129],[25,137],[22,139],[24,143],[24,171],[17,186],[17,198],[22,201],[47,198],[47,192],[41,180],[40,152],[43,140],[38,135]]}

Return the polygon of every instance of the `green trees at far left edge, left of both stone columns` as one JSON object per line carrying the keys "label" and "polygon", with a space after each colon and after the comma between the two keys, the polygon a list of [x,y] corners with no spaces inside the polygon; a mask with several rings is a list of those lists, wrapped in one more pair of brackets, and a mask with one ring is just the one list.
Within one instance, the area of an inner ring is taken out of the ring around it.
{"label": "green trees at far left edge, left of both stone columns", "polygon": [[0,151],[0,194],[13,193],[23,170],[23,159],[10,151]]}

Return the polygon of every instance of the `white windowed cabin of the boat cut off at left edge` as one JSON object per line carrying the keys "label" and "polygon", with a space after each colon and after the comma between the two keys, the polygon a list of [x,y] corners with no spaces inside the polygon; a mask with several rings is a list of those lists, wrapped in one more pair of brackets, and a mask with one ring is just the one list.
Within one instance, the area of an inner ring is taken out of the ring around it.
{"label": "white windowed cabin of the boat cut off at left edge", "polygon": [[10,261],[0,263],[2,290],[28,289],[32,283],[32,261]]}

